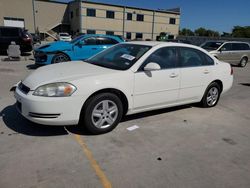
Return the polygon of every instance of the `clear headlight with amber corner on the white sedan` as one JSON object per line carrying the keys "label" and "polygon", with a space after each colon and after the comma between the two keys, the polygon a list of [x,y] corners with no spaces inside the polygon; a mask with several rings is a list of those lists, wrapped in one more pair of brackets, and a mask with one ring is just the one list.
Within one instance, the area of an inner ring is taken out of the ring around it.
{"label": "clear headlight with amber corner on the white sedan", "polygon": [[76,87],[69,83],[58,82],[38,87],[33,95],[42,97],[68,97],[76,91]]}

